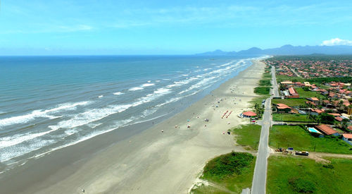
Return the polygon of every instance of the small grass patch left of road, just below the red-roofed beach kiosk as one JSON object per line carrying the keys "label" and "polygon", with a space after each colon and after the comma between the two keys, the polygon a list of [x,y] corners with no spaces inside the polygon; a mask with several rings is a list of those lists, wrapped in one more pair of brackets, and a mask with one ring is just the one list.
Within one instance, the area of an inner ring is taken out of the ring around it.
{"label": "small grass patch left of road, just below the red-roofed beach kiosk", "polygon": [[261,126],[241,125],[231,131],[236,135],[236,142],[239,145],[246,146],[249,150],[258,150]]}

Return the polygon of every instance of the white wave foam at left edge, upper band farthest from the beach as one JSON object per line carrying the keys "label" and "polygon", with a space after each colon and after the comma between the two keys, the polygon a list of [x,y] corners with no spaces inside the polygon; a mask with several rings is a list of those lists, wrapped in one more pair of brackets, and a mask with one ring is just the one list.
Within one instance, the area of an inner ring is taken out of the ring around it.
{"label": "white wave foam at left edge, upper band farthest from the beach", "polygon": [[68,111],[68,110],[73,110],[76,109],[77,106],[86,106],[87,104],[90,104],[92,102],[85,101],[85,102],[76,102],[76,103],[65,103],[65,104],[59,104],[57,107],[53,109],[48,109],[48,110],[34,110],[30,114],[25,114],[21,116],[13,116],[10,118],[6,119],[1,119],[0,120],[0,128],[4,126],[11,126],[14,124],[19,124],[19,123],[27,123],[29,121],[33,121],[34,119],[37,119],[39,117],[46,117],[49,119],[56,119],[58,118],[57,116],[51,116],[49,114],[57,113],[60,111]]}

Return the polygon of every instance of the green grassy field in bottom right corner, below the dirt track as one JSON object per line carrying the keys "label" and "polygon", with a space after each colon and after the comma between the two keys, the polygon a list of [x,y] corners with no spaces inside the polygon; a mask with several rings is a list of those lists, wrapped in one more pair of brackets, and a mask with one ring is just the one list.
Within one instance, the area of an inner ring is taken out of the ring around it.
{"label": "green grassy field in bottom right corner, below the dirt track", "polygon": [[313,159],[279,156],[268,159],[267,193],[352,193],[352,159]]}

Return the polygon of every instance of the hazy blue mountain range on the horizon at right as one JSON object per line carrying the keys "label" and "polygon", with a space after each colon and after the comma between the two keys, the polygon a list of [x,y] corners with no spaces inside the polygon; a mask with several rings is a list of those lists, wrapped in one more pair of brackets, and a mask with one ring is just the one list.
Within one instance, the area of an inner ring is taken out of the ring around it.
{"label": "hazy blue mountain range on the horizon at right", "polygon": [[197,55],[244,55],[244,54],[269,54],[269,55],[306,55],[306,54],[352,54],[352,46],[297,46],[290,44],[274,49],[260,49],[252,47],[242,51],[208,51]]}

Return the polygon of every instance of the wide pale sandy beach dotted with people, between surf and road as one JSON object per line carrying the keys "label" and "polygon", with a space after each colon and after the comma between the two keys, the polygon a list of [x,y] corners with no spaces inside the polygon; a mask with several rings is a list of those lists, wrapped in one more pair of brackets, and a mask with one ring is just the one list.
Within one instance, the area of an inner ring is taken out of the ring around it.
{"label": "wide pale sandy beach dotted with people, between surf and road", "polygon": [[[41,174],[46,177],[16,193],[188,193],[209,159],[232,150],[246,152],[227,130],[249,123],[237,115],[249,109],[263,71],[264,64],[253,61],[179,114],[89,159]],[[225,111],[232,114],[222,119]]]}

